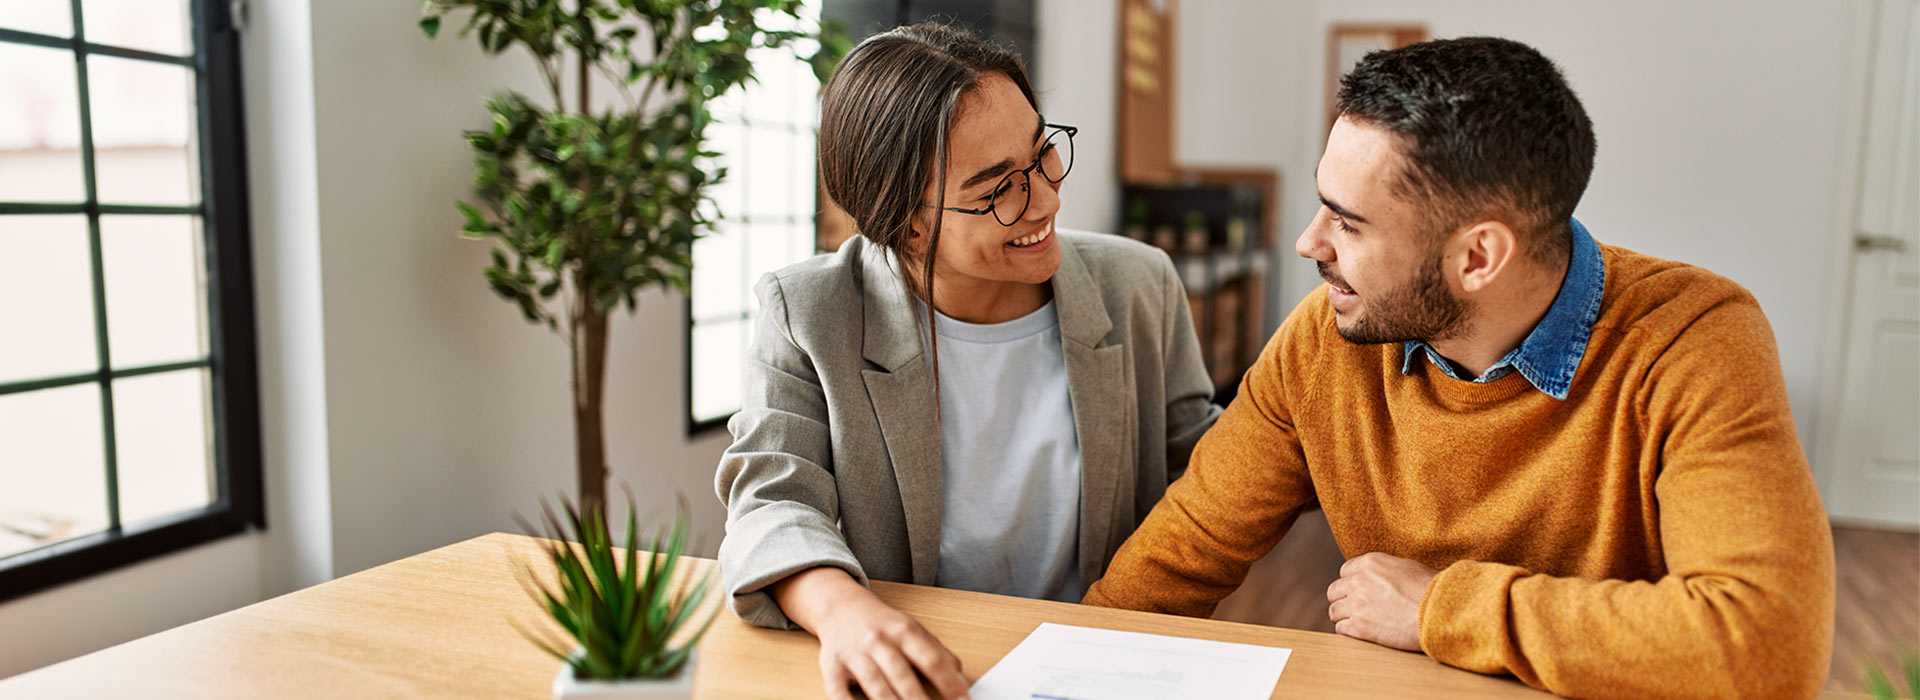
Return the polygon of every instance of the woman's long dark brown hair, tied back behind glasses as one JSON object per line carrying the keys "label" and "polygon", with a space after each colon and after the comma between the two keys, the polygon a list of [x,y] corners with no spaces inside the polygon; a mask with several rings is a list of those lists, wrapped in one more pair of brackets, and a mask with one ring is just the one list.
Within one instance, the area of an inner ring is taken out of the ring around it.
{"label": "woman's long dark brown hair, tied back behind glasses", "polygon": [[[1039,111],[1020,54],[964,29],[918,23],[854,46],[820,98],[820,178],[828,198],[847,209],[866,240],[922,265],[918,278],[900,276],[929,309],[941,217],[933,217],[918,255],[910,253],[912,222],[922,203],[947,205],[947,128],[954,105],[993,73],[1014,81]],[[929,184],[933,201],[922,201]]]}

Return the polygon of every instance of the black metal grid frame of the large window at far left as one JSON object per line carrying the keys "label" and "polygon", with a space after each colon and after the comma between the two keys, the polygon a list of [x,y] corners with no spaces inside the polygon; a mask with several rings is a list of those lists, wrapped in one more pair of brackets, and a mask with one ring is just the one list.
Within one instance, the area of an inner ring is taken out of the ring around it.
{"label": "black metal grid frame of the large window at far left", "polygon": [[[265,529],[261,487],[259,361],[255,355],[253,261],[248,213],[248,171],[244,102],[240,96],[240,31],[223,0],[188,0],[192,54],[169,56],[86,40],[81,4],[73,8],[73,35],[48,36],[0,29],[0,44],[27,44],[73,52],[81,100],[81,157],[86,201],[15,203],[0,201],[0,222],[19,215],[86,215],[92,247],[94,332],[102,362],[92,372],[0,384],[0,395],[96,384],[102,387],[106,426],[108,518],[102,533],[52,543],[0,558],[0,602],[21,598],[63,583],[125,568],[211,543],[250,529]],[[94,178],[92,96],[86,58],[184,65],[194,71],[198,128],[200,203],[196,205],[115,205],[100,203]],[[100,217],[102,215],[198,215],[204,232],[207,274],[207,357],[188,362],[115,370],[104,359],[106,299]],[[113,380],[205,368],[209,376],[209,416],[213,428],[215,499],[205,508],[184,512],[138,529],[125,529],[119,514],[117,453],[113,435]]]}

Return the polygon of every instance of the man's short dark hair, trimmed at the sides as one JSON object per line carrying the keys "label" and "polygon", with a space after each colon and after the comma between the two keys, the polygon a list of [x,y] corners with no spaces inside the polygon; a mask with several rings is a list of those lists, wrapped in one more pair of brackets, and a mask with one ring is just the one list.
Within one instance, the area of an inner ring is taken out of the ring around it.
{"label": "man's short dark hair, trimmed at the sides", "polygon": [[1340,79],[1338,111],[1402,136],[1402,194],[1440,209],[1434,228],[1494,215],[1534,259],[1565,265],[1594,123],[1532,46],[1467,36],[1367,54]]}

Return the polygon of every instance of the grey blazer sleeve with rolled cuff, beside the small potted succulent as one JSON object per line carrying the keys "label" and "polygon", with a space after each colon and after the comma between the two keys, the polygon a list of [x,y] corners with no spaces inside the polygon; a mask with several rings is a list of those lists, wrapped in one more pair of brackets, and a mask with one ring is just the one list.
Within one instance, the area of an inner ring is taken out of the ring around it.
{"label": "grey blazer sleeve with rolled cuff, beside the small potted succulent", "polygon": [[820,376],[793,339],[780,278],[762,276],[755,293],[760,316],[747,353],[745,403],[728,422],[733,445],[714,474],[714,493],[728,508],[720,572],[735,616],[797,629],[768,585],[816,566],[843,568],[860,585],[868,579],[839,529]]}

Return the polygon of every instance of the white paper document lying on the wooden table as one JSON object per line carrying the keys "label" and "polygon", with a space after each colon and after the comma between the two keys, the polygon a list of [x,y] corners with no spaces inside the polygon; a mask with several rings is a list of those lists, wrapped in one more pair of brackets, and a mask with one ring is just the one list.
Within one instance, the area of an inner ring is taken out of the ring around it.
{"label": "white paper document lying on the wooden table", "polygon": [[1292,650],[1043,623],[973,700],[1265,700]]}

